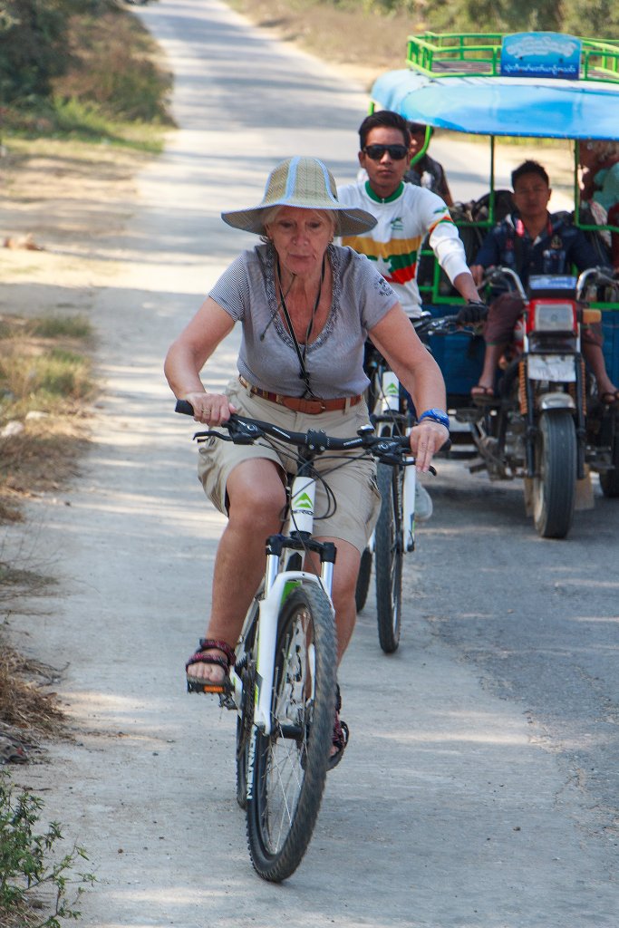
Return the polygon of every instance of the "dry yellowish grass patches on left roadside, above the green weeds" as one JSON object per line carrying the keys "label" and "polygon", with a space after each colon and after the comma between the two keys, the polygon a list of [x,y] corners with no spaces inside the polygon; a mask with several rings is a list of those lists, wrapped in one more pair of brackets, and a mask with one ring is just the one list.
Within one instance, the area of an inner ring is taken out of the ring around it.
{"label": "dry yellowish grass patches on left roadside, above the green weeds", "polygon": [[[58,491],[79,471],[88,442],[84,404],[93,395],[84,354],[90,335],[81,316],[0,317],[0,524],[21,520],[23,500]],[[51,583],[0,562],[0,603],[8,612]],[[41,690],[54,676],[0,638],[0,741],[24,747],[34,735],[63,734],[55,694]]]}

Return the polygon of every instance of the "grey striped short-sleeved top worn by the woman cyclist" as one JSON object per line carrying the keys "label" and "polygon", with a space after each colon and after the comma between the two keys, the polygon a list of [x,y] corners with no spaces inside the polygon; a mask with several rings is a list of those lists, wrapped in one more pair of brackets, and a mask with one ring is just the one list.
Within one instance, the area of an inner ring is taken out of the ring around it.
{"label": "grey striped short-sleeved top worn by the woman cyclist", "polygon": [[[313,393],[332,399],[365,391],[364,342],[397,297],[365,255],[337,245],[327,253],[333,300],[324,328],[307,347],[305,368]],[[278,312],[275,258],[270,244],[243,251],[210,296],[242,325],[239,373],[262,390],[303,396],[299,358]]]}

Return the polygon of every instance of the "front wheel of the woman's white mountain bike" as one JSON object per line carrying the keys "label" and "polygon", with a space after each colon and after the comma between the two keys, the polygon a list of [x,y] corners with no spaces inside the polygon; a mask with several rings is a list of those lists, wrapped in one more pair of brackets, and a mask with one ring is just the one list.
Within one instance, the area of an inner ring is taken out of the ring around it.
{"label": "front wheel of the woman's white mountain bike", "polygon": [[280,883],[312,837],[333,738],[336,685],[333,612],[318,586],[299,586],[279,612],[271,734],[253,730],[247,836],[251,863]]}

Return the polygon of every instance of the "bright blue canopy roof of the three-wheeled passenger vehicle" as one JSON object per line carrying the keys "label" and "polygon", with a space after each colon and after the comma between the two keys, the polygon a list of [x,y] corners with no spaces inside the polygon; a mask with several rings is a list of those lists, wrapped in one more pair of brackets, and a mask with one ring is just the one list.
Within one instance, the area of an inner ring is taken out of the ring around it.
{"label": "bright blue canopy roof of the three-wheeled passenger vehicle", "polygon": [[617,138],[619,84],[387,71],[372,99],[406,119],[470,135]]}

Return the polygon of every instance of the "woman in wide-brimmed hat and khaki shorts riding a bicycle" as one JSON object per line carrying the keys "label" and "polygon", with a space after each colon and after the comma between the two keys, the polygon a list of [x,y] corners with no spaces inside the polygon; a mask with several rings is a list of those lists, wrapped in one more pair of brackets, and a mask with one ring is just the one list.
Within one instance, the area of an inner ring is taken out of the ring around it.
{"label": "woman in wide-brimmed hat and khaki shorts riding a bicycle", "polygon": [[[248,210],[222,213],[229,226],[254,232],[261,243],[242,252],[172,344],[165,374],[178,399],[209,426],[232,412],[296,432],[323,429],[350,436],[367,425],[363,393],[366,336],[376,343],[422,412],[410,436],[418,470],[448,437],[445,384],[390,285],[364,256],[333,244],[335,236],[365,232],[369,213],[342,205],[327,167],[314,158],[282,161],[269,175],[264,198]],[[213,393],[200,371],[239,321],[239,378]],[[355,459],[333,470],[316,489],[316,536],[337,546],[332,599],[342,654],[355,626],[355,582],[361,552],[380,509],[375,465]],[[294,462],[264,445],[211,439],[200,447],[199,473],[207,496],[228,517],[213,570],[211,618],[187,676],[224,687],[243,617],[264,573],[264,538],[281,528],[284,473]],[[321,462],[316,464],[321,470]],[[311,563],[305,564],[312,570]],[[332,758],[345,747],[336,715]]]}

